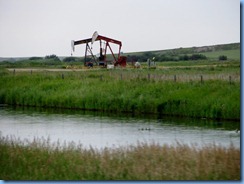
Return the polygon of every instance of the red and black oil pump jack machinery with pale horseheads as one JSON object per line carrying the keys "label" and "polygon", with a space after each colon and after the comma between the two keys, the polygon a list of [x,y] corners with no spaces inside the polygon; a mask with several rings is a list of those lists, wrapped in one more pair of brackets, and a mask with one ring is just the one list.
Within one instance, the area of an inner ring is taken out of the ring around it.
{"label": "red and black oil pump jack machinery with pale horseheads", "polygon": [[[100,42],[98,58],[92,52],[92,45],[95,41]],[[111,43],[119,46],[118,54],[115,54],[113,52],[112,47],[110,45]],[[106,67],[108,64],[113,64],[114,66],[126,67],[126,57],[120,55],[121,47],[122,47],[121,41],[99,35],[97,31],[95,31],[92,35],[92,38],[87,38],[87,39],[77,40],[77,41],[72,40],[71,47],[73,52],[75,51],[75,45],[79,45],[79,44],[86,44],[85,58],[84,58],[85,66],[100,65]],[[108,49],[111,52],[112,61],[109,61],[107,58]]]}

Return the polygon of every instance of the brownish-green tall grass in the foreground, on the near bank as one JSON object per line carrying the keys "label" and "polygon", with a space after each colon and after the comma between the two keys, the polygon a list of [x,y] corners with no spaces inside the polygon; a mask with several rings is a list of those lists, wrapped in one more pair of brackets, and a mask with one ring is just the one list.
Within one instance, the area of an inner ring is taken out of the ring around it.
{"label": "brownish-green tall grass in the foreground, on the near bank", "polygon": [[240,180],[240,150],[232,146],[138,143],[98,151],[1,136],[0,150],[3,180]]}

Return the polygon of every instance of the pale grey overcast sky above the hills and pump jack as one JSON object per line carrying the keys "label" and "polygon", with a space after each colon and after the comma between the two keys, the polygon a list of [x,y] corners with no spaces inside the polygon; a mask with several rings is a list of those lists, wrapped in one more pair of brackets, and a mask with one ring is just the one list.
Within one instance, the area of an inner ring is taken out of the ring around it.
{"label": "pale grey overcast sky above the hills and pump jack", "polygon": [[0,57],[70,56],[94,31],[123,52],[240,42],[240,1],[0,0]]}

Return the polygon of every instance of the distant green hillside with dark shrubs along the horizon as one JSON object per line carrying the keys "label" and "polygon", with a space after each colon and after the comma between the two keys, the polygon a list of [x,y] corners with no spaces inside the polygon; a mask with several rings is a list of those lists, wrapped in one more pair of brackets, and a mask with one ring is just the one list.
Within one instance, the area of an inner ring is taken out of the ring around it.
{"label": "distant green hillside with dark shrubs along the horizon", "polygon": [[[164,61],[186,61],[186,60],[219,60],[219,56],[226,56],[229,61],[240,60],[240,43],[230,43],[212,46],[202,46],[202,47],[189,47],[189,48],[175,48],[167,50],[156,50],[156,51],[142,51],[142,52],[129,52],[123,53],[123,56],[127,57],[128,62],[145,62],[148,58],[155,58],[157,62]],[[56,57],[56,55],[54,55]],[[46,56],[47,57],[47,56]],[[1,58],[0,62],[5,61],[8,63],[14,62],[27,62],[34,65],[39,65],[38,63],[46,63],[46,57],[16,57],[16,58]],[[59,60],[65,61],[65,59],[72,59],[75,62],[81,62],[84,57],[66,57],[57,56]],[[55,59],[58,59],[55,58]],[[39,60],[38,60],[39,59]],[[52,59],[52,58],[51,58]],[[108,60],[112,60],[111,55],[107,55]],[[45,61],[44,61],[45,60]],[[51,63],[53,65],[53,62]]]}

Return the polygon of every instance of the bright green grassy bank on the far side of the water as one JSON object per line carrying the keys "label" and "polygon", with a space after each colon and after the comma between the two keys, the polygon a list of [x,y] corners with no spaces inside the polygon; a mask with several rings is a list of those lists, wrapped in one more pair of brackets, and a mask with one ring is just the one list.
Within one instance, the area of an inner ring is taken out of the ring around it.
{"label": "bright green grassy bank on the far side of the water", "polygon": [[181,75],[180,71],[185,71],[175,69],[176,77],[168,70],[5,71],[0,76],[0,103],[239,120],[240,81],[234,80],[234,75],[238,78],[236,70],[228,69],[233,74],[231,80],[228,74],[226,79],[211,76],[211,69],[202,79],[199,75],[189,79],[196,70]]}

